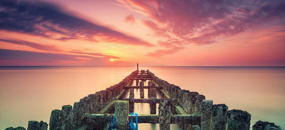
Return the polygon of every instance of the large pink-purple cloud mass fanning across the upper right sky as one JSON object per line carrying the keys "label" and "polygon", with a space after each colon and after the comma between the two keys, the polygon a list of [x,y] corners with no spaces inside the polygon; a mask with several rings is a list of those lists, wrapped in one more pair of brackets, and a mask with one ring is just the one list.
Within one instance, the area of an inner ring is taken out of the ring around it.
{"label": "large pink-purple cloud mass fanning across the upper right sky", "polygon": [[[181,39],[176,41],[175,47],[158,49],[147,54],[151,57],[173,54],[180,49],[184,49],[185,44],[205,44],[215,41],[219,37],[258,28],[266,22],[279,25],[285,22],[282,19],[285,15],[285,1],[282,0],[274,2],[269,0],[117,1],[121,2],[123,6],[149,18],[143,23],[150,29],[155,31],[162,28],[172,29],[172,35],[169,39]],[[164,42],[159,41],[158,44],[161,47],[171,47],[173,43],[167,41],[168,39]]]}

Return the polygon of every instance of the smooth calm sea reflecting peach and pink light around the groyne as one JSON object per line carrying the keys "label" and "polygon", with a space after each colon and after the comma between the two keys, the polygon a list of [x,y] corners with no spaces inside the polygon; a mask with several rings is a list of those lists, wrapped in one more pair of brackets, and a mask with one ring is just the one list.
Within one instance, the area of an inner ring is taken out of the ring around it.
{"label": "smooth calm sea reflecting peach and pink light around the groyne", "polygon": [[[0,67],[0,129],[23,126],[28,120],[49,123],[50,113],[61,106],[119,83],[136,66],[30,66]],[[231,109],[258,120],[275,122],[285,129],[285,67],[171,67],[140,66],[160,79],[197,91]],[[145,90],[146,91],[146,90]],[[135,90],[136,97],[139,92]],[[139,97],[139,96],[138,96]],[[139,114],[149,114],[148,104],[136,104]],[[159,129],[139,124],[139,129]],[[177,129],[171,125],[171,129]]]}

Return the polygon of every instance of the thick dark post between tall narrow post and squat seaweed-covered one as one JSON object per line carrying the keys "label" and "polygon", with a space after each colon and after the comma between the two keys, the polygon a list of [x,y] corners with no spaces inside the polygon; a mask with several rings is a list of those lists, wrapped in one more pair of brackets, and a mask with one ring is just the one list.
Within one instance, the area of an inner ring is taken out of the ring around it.
{"label": "thick dark post between tall narrow post and squat seaweed-covered one", "polygon": [[225,130],[227,122],[228,106],[225,104],[215,104],[212,106],[211,129]]}

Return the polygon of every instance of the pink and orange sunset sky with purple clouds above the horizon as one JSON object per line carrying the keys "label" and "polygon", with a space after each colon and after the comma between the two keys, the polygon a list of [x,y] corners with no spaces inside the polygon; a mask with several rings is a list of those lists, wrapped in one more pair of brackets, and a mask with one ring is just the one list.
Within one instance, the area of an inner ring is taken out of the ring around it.
{"label": "pink and orange sunset sky with purple clouds above the horizon", "polygon": [[0,0],[0,66],[285,66],[284,0]]}

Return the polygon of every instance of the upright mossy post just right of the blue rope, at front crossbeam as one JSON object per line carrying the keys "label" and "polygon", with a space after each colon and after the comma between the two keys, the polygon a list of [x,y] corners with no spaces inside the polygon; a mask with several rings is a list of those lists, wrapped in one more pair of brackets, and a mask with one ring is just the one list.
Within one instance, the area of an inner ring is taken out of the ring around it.
{"label": "upright mossy post just right of the blue rope, at front crossbeam", "polygon": [[170,122],[171,122],[171,115],[170,115],[170,106],[172,105],[172,99],[170,98],[161,98],[159,103],[159,129],[160,130],[170,130]]}

